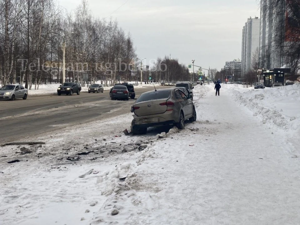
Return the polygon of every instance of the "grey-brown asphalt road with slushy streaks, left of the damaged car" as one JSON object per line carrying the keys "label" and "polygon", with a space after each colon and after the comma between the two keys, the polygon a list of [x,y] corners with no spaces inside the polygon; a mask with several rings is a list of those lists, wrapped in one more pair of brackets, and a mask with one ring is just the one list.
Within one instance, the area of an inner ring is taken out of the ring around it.
{"label": "grey-brown asphalt road with slushy streaks, left of the damaged car", "polygon": [[[167,87],[157,87],[167,88]],[[138,95],[153,88],[136,88]],[[80,95],[28,96],[26,100],[0,101],[0,144],[17,142],[50,131],[85,124],[103,118],[113,118],[130,112],[134,99],[112,101],[109,91]],[[102,128],[101,128],[102,129]],[[32,141],[32,140],[31,140]],[[34,140],[33,140],[34,141]]]}

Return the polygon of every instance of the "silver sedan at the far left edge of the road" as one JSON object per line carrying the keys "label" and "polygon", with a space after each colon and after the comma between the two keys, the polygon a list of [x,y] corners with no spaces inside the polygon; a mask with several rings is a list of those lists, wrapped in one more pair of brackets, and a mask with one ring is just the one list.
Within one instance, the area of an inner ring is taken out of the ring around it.
{"label": "silver sedan at the far left edge of the road", "polygon": [[15,100],[16,98],[27,99],[28,90],[20,84],[8,84],[0,88],[0,99]]}

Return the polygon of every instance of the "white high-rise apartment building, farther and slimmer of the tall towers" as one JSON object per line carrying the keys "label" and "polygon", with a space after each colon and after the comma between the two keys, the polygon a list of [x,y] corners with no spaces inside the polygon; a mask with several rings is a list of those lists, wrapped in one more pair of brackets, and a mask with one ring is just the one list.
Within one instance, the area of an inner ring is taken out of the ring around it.
{"label": "white high-rise apartment building, farther and slimmer of the tall towers", "polygon": [[252,68],[252,56],[259,51],[260,19],[248,18],[242,30],[242,75]]}

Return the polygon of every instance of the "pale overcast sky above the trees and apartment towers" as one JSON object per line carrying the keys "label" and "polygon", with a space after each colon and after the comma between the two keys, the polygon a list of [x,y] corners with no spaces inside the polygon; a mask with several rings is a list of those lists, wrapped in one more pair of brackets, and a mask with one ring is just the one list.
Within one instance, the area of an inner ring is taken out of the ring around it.
{"label": "pale overcast sky above the trees and apartment towers", "polygon": [[[69,12],[80,2],[59,0]],[[218,70],[241,58],[242,27],[248,17],[260,16],[257,0],[89,0],[89,8],[95,17],[117,19],[147,63],[171,54],[180,63],[195,59],[195,65]]]}

